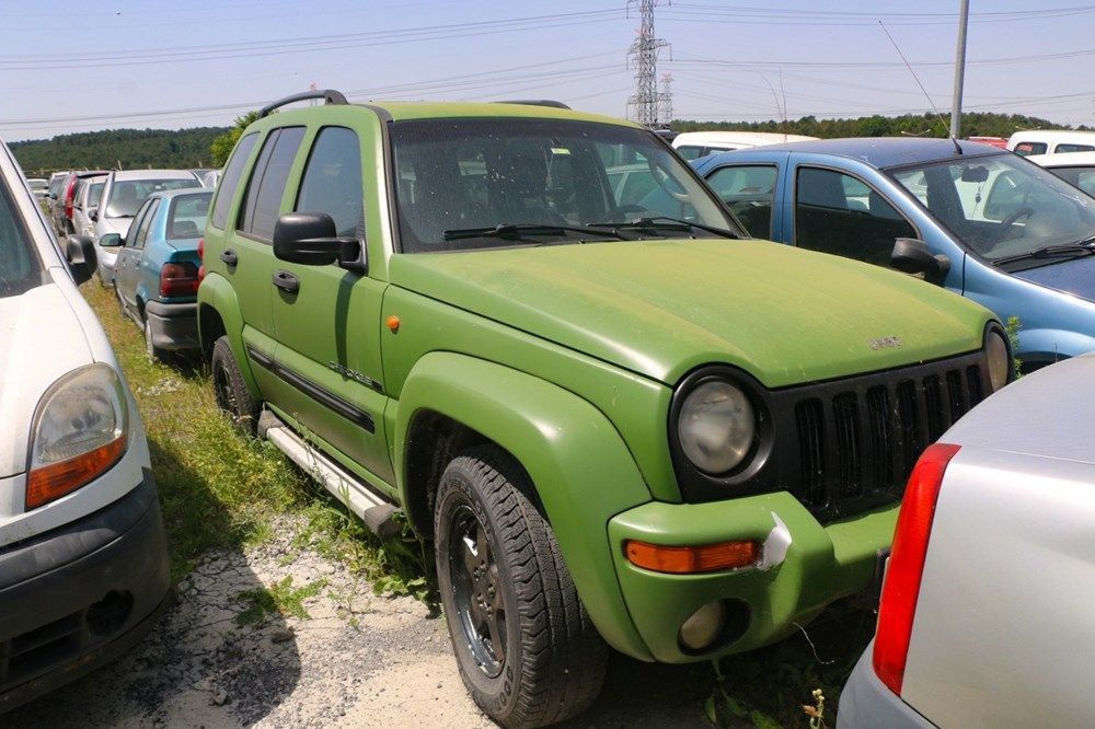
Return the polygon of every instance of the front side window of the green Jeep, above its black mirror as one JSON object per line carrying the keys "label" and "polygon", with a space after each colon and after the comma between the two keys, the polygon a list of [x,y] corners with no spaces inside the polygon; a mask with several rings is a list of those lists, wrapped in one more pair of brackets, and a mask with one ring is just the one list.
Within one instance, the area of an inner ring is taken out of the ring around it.
{"label": "front side window of the green Jeep, above its black mirror", "polygon": [[345,127],[322,129],[308,157],[296,210],[326,212],[338,235],[353,238],[364,220],[364,197],[357,134]]}

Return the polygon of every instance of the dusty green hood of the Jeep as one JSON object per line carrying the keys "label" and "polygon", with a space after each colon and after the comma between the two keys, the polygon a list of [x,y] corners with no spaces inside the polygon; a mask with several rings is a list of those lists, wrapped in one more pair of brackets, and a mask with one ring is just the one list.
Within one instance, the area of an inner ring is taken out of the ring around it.
{"label": "dusty green hood of the Jeep", "polygon": [[711,362],[769,387],[981,347],[988,310],[909,276],[766,241],[397,255],[392,284],[659,380]]}

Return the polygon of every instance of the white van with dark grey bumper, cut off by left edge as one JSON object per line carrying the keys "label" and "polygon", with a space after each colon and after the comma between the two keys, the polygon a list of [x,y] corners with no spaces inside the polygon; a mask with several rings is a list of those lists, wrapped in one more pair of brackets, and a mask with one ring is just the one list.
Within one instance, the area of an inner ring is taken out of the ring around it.
{"label": "white van with dark grey bumper, cut off by left edge", "polygon": [[[137,404],[0,143],[0,715],[126,650],[170,604]],[[3,724],[0,718],[0,725]]]}

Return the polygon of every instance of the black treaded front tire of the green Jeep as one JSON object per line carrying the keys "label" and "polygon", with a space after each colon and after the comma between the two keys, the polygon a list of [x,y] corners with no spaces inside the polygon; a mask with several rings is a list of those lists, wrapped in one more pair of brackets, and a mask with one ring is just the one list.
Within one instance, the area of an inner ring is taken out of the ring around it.
{"label": "black treaded front tire of the green Jeep", "polygon": [[[480,708],[510,728],[554,724],[588,708],[601,691],[608,652],[534,499],[528,476],[508,454],[477,447],[446,467],[434,512],[438,582],[460,675]],[[456,540],[463,544],[461,524],[470,514],[497,566],[507,618],[499,630],[504,660],[493,678],[471,648],[461,617],[470,611],[458,605],[454,586],[470,578],[450,557]]]}

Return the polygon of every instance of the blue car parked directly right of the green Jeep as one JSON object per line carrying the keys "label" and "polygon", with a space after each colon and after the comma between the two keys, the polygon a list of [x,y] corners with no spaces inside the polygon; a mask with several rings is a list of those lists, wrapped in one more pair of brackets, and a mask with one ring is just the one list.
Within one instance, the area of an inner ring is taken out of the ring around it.
{"label": "blue car parked directly right of the green Jeep", "polygon": [[692,164],[754,238],[892,266],[1017,317],[1025,370],[1095,350],[1095,198],[1011,152],[828,139]]}

